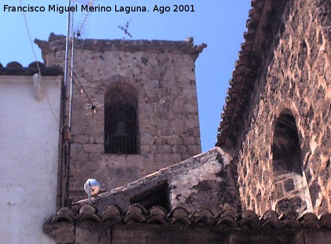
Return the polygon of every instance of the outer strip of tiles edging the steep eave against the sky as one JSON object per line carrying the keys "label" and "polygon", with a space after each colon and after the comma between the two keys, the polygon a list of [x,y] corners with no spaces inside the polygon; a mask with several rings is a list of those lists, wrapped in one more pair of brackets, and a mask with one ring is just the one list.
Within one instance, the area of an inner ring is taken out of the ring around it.
{"label": "outer strip of tiles edging the steep eave against the sky", "polygon": [[[254,89],[254,75],[260,63],[262,45],[255,44],[258,36],[258,27],[263,18],[265,0],[252,0],[252,9],[249,12],[249,19],[246,22],[247,31],[243,33],[244,43],[241,43],[241,51],[238,53],[238,60],[229,80],[230,87],[227,89],[225,105],[221,114],[221,123],[218,128],[216,146],[225,144],[226,138],[231,130],[232,123],[241,122],[242,110],[247,105],[250,92]],[[236,131],[234,131],[236,133]]]}

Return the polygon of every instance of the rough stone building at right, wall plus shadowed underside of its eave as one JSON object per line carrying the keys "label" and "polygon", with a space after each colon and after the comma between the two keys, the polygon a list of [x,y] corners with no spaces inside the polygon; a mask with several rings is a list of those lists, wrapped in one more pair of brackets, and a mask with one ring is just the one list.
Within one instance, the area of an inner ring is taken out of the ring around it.
{"label": "rough stone building at right, wall plus shadowed underside of its eave", "polygon": [[[243,46],[253,46],[253,65],[237,88],[238,63],[243,63],[239,57],[219,138],[233,147],[244,208],[262,213],[288,207],[319,214],[331,206],[331,7],[328,1],[263,2],[254,43],[247,37]],[[237,105],[233,113],[232,103]],[[293,130],[277,135],[282,130],[277,119],[284,111],[292,114]],[[288,147],[287,155],[277,158],[275,140],[286,148],[290,134],[297,135],[298,148]],[[298,167],[293,167],[295,162]]]}

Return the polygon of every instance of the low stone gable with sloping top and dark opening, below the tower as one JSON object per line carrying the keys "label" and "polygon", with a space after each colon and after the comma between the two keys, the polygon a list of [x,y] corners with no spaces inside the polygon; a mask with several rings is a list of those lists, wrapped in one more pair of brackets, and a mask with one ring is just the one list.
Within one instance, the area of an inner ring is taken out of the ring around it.
{"label": "low stone gable with sloping top and dark opening, below the tower", "polygon": [[[135,182],[99,194],[93,200],[93,205],[99,212],[103,212],[109,204],[127,208],[131,204],[140,203],[149,209],[160,205],[157,198],[163,198],[168,203],[162,207],[169,211],[176,207],[184,207],[192,212],[208,208],[216,213],[220,207],[230,207],[237,211],[238,192],[232,179],[231,160],[229,154],[216,147]],[[73,208],[86,202],[82,200]],[[146,203],[149,203],[148,206]]]}

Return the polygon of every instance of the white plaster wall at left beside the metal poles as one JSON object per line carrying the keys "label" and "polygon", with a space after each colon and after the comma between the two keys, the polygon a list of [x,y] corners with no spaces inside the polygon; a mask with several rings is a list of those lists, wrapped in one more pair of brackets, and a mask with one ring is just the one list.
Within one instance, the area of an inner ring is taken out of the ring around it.
{"label": "white plaster wall at left beside the metal poles", "polygon": [[0,76],[0,243],[54,243],[42,224],[56,210],[60,77]]}

